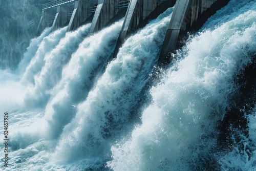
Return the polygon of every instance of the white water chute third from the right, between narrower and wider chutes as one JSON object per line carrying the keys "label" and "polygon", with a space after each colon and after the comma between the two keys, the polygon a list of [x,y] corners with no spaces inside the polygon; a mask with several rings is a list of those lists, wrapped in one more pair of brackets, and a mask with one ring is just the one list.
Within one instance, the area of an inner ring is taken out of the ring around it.
{"label": "white water chute third from the right, between narrower and wider chutes", "polygon": [[52,137],[57,138],[63,126],[74,117],[76,112],[74,105],[86,99],[95,77],[108,62],[115,48],[121,25],[122,21],[84,39],[72,55],[71,61],[62,72],[62,79],[53,89],[52,98],[46,106],[45,119],[48,121],[49,129],[55,130],[50,133]]}

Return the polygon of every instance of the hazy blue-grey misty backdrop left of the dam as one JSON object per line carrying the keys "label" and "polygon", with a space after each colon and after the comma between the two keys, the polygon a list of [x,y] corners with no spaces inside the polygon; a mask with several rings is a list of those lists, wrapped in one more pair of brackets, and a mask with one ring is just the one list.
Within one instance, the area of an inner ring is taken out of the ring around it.
{"label": "hazy blue-grey misty backdrop left of the dam", "polygon": [[36,34],[42,4],[49,0],[0,0],[0,69],[15,70]]}

